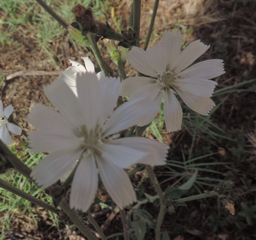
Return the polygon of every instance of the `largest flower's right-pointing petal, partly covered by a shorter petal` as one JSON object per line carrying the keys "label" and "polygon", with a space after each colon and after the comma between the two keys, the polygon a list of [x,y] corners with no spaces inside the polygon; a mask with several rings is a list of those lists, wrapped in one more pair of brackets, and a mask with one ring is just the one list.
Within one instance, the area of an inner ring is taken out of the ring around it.
{"label": "largest flower's right-pointing petal, partly covered by a shorter petal", "polygon": [[164,165],[169,146],[158,141],[141,137],[120,138],[111,140],[110,144],[126,146],[134,150],[145,152],[146,156],[137,163],[148,165]]}

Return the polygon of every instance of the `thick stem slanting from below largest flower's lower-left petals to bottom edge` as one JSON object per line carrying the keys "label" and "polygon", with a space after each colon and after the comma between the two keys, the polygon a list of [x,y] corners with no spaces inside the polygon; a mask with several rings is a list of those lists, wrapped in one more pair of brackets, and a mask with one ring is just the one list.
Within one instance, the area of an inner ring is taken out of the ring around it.
{"label": "thick stem slanting from below largest flower's lower-left petals to bottom edge", "polygon": [[59,203],[61,209],[69,216],[73,224],[82,232],[84,236],[86,236],[89,240],[98,240],[98,238],[93,235],[90,228],[82,223],[76,213],[70,208],[69,204],[65,199],[62,199]]}

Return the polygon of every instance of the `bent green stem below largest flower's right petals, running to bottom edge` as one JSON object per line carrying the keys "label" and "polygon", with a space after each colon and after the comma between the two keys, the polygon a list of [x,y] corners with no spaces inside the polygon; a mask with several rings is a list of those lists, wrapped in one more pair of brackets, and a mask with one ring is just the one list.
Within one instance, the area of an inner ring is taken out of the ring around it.
{"label": "bent green stem below largest flower's right petals, running to bottom edge", "polygon": [[156,240],[161,240],[161,225],[163,222],[163,217],[164,217],[165,207],[166,207],[165,206],[165,198],[164,198],[163,191],[157,181],[156,175],[150,165],[146,166],[146,171],[147,171],[148,176],[150,177],[150,179],[153,183],[153,186],[156,189],[157,194],[160,199],[160,211],[159,211],[158,218],[157,218],[155,234],[156,234]]}

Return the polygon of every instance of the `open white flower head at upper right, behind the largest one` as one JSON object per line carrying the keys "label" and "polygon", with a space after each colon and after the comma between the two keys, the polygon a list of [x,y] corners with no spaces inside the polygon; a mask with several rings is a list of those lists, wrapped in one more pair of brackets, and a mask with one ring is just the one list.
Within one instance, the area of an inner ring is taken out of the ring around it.
{"label": "open white flower head at upper right, behind the largest one", "polygon": [[[133,47],[126,54],[127,60],[140,73],[149,77],[131,77],[121,83],[121,96],[135,99],[148,93],[159,107],[164,100],[164,119],[168,132],[181,128],[182,109],[175,93],[195,112],[208,115],[215,103],[209,98],[217,82],[208,79],[218,77],[224,72],[223,60],[211,59],[190,66],[209,46],[196,40],[181,53],[182,37],[180,31],[164,31],[162,42],[143,51]],[[189,68],[187,68],[189,67]],[[150,123],[157,115],[153,110],[145,115],[140,126]]]}

